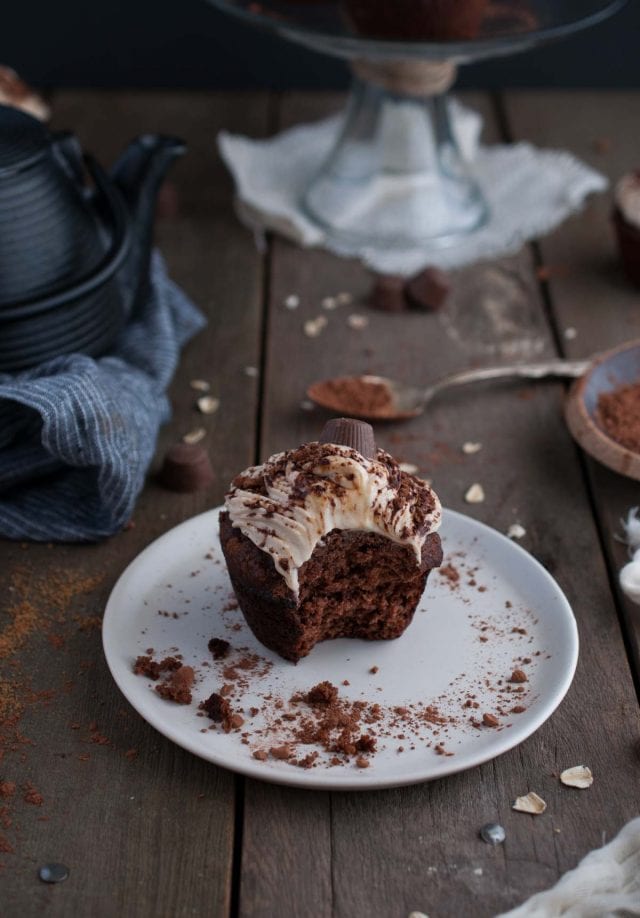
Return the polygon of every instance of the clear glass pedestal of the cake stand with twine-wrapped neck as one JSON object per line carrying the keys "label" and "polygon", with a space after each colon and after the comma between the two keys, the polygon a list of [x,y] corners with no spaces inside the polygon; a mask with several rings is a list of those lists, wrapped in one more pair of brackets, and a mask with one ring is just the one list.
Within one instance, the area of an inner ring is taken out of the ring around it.
{"label": "clear glass pedestal of the cake stand with twine-wrapped neck", "polygon": [[332,238],[447,245],[488,217],[449,117],[449,61],[352,62],[342,129],[302,205]]}

